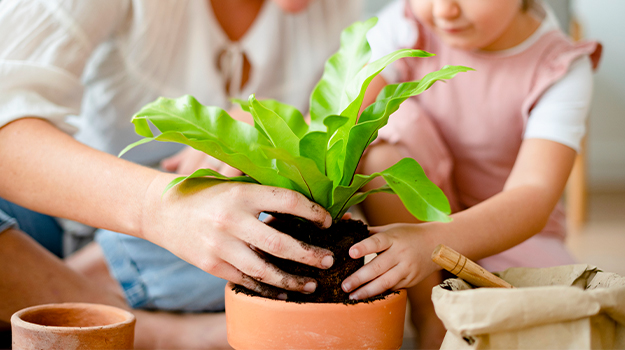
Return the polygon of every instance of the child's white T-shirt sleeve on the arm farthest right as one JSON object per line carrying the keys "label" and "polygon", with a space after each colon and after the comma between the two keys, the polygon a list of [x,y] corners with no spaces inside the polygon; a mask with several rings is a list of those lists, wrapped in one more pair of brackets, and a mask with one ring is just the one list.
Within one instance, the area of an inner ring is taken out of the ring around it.
{"label": "child's white T-shirt sleeve on the arm farthest right", "polygon": [[553,84],[530,111],[524,139],[559,142],[580,150],[593,90],[590,58],[577,59],[566,75]]}

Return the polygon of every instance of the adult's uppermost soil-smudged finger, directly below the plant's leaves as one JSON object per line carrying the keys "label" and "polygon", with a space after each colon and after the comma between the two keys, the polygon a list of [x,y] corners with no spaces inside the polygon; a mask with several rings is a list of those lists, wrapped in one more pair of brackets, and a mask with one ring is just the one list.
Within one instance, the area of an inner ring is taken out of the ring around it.
{"label": "adult's uppermost soil-smudged finger, directly below the plant's leaves", "polygon": [[257,203],[258,212],[291,214],[327,228],[332,217],[319,204],[311,202],[303,194],[278,187],[255,186],[248,194],[251,203]]}

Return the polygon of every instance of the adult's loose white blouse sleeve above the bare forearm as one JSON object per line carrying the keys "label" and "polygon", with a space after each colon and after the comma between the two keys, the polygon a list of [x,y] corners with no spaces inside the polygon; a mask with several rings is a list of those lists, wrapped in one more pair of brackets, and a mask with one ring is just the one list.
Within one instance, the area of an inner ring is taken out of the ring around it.
{"label": "adult's loose white blouse sleeve above the bare forearm", "polygon": [[82,70],[110,35],[123,2],[0,1],[0,127],[27,116],[61,130],[77,115]]}

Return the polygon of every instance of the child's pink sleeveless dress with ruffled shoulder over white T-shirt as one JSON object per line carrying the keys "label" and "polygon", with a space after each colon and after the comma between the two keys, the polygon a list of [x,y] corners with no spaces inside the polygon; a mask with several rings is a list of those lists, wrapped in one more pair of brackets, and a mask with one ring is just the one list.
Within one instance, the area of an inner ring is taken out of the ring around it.
{"label": "child's pink sleeveless dress with ruffled shoulder over white T-shirt", "polygon": [[[476,71],[435,83],[406,101],[380,131],[380,138],[399,146],[404,156],[415,158],[445,191],[452,210],[463,210],[503,190],[533,106],[575,59],[595,52],[598,56],[600,47],[592,42],[573,44],[554,30],[513,55],[464,51],[442,43],[406,11],[417,22],[414,48],[436,56],[398,62],[399,81],[418,80],[444,65]],[[542,232],[480,264],[500,271],[574,263],[564,245],[565,233],[559,204]]]}

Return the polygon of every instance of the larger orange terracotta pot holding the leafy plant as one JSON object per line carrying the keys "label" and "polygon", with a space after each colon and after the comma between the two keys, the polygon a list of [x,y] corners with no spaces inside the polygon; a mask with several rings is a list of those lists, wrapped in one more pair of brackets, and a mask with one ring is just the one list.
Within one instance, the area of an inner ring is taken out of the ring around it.
{"label": "larger orange terracotta pot holding the leafy plant", "polygon": [[406,291],[370,303],[295,303],[226,285],[228,343],[243,349],[399,349]]}

